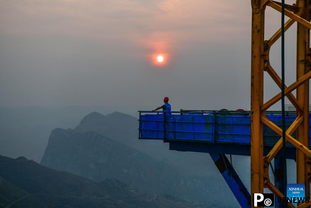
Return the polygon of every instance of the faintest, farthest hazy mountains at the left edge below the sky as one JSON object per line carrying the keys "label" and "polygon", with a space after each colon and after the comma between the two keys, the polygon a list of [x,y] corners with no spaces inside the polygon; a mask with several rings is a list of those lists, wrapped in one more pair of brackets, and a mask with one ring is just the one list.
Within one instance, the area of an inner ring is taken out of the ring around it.
{"label": "faintest, farthest hazy mountains at the left edge below the sky", "polygon": [[95,110],[111,112],[96,106],[54,109],[38,106],[0,107],[0,154],[13,158],[25,156],[40,162],[54,128],[74,128],[83,116]]}

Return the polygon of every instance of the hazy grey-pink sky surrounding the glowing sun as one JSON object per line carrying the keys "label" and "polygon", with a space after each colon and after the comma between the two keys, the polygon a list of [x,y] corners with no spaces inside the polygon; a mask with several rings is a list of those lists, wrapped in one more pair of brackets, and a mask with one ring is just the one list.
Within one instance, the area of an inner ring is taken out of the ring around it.
{"label": "hazy grey-pink sky surrounding the glowing sun", "polygon": [[[249,0],[0,2],[1,106],[130,113],[168,96],[173,110],[250,109]],[[281,15],[267,8],[266,22],[268,39]],[[295,30],[285,36],[288,85],[296,74]],[[280,42],[270,52],[278,73]],[[153,63],[157,54],[165,65]],[[265,100],[280,91],[268,76],[265,87]]]}

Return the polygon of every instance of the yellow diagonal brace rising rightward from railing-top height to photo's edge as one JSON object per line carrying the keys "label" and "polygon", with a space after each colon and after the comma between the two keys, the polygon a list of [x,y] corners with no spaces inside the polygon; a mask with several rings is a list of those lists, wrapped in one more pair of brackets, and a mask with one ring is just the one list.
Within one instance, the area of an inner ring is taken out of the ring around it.
{"label": "yellow diagonal brace rising rightward from railing-top height to photo's edge", "polygon": [[[299,87],[300,85],[308,81],[310,77],[311,77],[311,71],[303,75],[298,81],[295,81],[293,84],[285,88],[284,95],[287,96],[288,93],[292,92],[294,89],[296,89],[297,87]],[[268,100],[265,104],[262,105],[261,111],[266,111],[273,104],[279,101],[281,99],[281,96],[282,96],[281,93],[279,93],[276,96],[274,96],[272,99]]]}

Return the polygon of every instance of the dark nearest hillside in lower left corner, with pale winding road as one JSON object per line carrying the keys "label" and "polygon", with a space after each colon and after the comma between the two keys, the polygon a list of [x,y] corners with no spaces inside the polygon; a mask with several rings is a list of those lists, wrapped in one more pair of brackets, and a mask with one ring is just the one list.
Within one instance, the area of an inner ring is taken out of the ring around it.
{"label": "dark nearest hillside in lower left corner, with pale winding road", "polygon": [[207,207],[129,188],[116,179],[94,182],[27,160],[0,155],[0,207]]}

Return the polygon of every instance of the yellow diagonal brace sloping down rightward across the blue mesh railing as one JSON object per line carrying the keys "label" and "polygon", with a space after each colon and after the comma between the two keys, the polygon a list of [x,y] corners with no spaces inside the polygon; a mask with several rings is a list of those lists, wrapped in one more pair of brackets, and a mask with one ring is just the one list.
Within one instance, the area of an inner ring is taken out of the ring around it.
{"label": "yellow diagonal brace sloping down rightward across the blue mesh railing", "polygon": [[[267,117],[261,116],[261,121],[266,124],[268,127],[270,127],[273,131],[275,131],[277,134],[282,136],[282,129],[278,127],[276,124],[272,123]],[[307,157],[311,158],[311,150],[309,148],[305,147],[302,143],[298,142],[295,138],[290,136],[288,133],[285,133],[285,139],[286,141],[290,142],[292,145],[294,145],[298,150],[303,152]]]}

